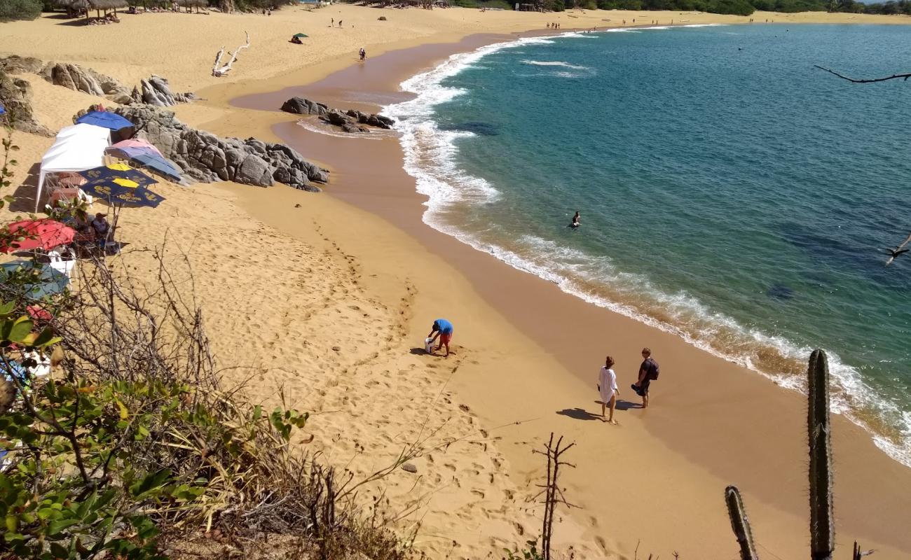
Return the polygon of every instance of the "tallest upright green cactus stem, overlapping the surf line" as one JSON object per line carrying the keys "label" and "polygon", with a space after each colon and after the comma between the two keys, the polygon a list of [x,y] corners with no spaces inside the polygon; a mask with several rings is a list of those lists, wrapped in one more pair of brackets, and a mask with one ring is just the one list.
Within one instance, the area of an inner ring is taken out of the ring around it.
{"label": "tallest upright green cactus stem, overlapping the surf line", "polygon": [[825,352],[810,354],[807,433],[810,445],[810,557],[832,560],[835,522],[832,507],[832,442],[829,425],[829,362]]}

